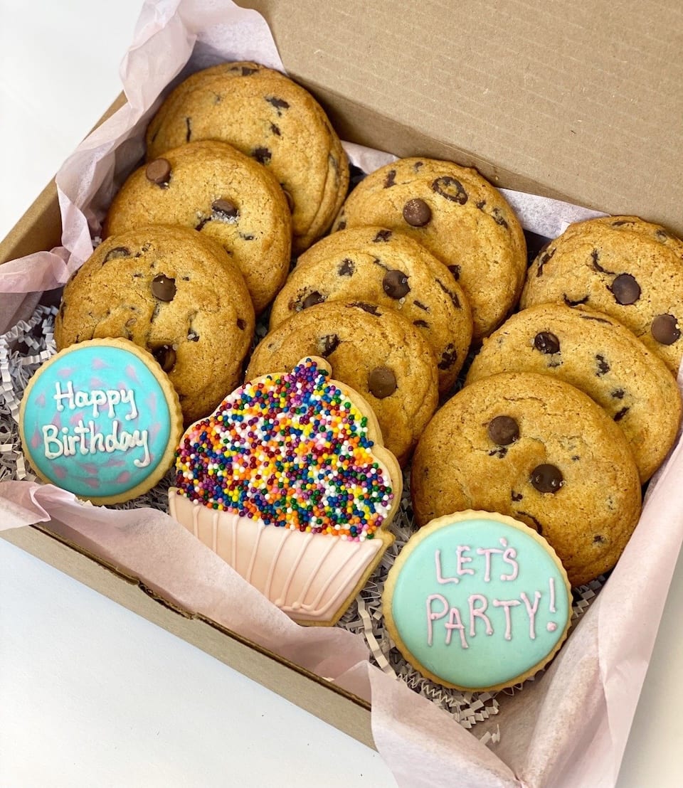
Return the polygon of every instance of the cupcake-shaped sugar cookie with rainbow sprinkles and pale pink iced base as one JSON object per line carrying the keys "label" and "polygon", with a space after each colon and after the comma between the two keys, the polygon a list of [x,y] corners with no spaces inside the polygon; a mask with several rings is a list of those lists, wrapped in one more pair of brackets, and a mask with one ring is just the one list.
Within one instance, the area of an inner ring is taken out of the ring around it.
{"label": "cupcake-shaped sugar cookie with rainbow sprinkles and pale pink iced base", "polygon": [[394,541],[400,500],[370,407],[309,358],[186,430],[169,511],[297,622],[331,625]]}

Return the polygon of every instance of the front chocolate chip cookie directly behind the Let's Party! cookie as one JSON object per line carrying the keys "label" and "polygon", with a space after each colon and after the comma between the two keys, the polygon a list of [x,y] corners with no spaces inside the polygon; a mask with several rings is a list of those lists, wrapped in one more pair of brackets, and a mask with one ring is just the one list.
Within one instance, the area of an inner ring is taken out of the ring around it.
{"label": "front chocolate chip cookie directly behind the Let's Party! cookie", "polygon": [[420,525],[465,509],[525,522],[572,585],[614,567],[640,516],[640,478],[618,425],[578,388],[531,372],[483,377],[437,411],[411,487]]}

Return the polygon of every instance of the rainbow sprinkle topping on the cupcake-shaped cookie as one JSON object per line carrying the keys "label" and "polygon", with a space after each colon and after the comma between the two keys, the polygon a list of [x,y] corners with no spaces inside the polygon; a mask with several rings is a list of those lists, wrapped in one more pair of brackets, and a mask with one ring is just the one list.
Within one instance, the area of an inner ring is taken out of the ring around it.
{"label": "rainbow sprinkle topping on the cupcake-shaped cookie", "polygon": [[394,495],[368,420],[311,359],[226,397],[176,452],[176,487],[266,525],[371,539]]}

